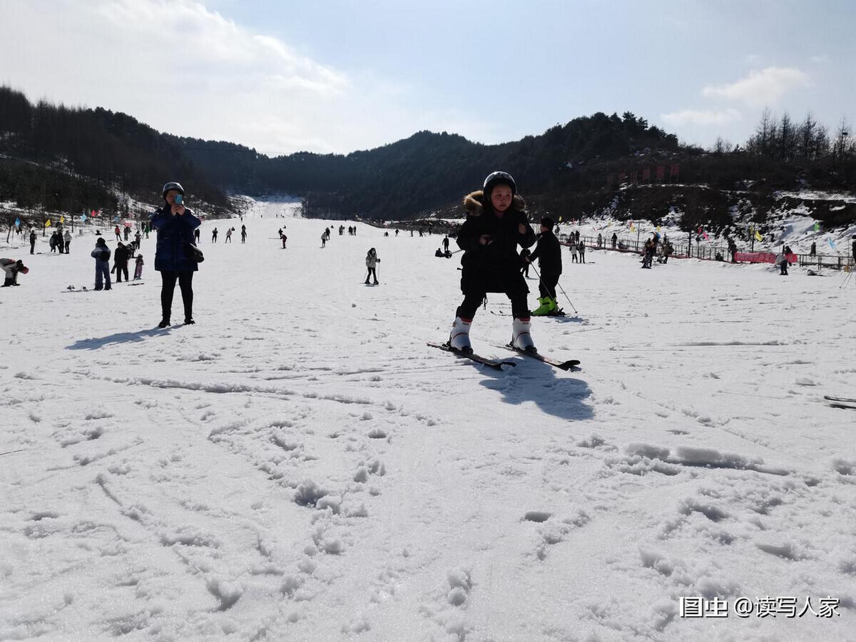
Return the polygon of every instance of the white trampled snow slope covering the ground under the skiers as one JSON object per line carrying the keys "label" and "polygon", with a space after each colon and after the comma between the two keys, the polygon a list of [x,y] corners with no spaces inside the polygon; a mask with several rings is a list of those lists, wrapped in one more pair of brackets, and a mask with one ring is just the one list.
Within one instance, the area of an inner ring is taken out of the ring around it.
{"label": "white trampled snow slope covering the ground under the skiers", "polygon": [[0,247],[31,268],[0,290],[0,639],[852,637],[856,412],[823,401],[856,396],[847,275],[565,252],[579,313],[532,335],[581,369],[504,350],[490,294],[500,372],[425,345],[461,301],[441,237],[294,211],[253,205],[246,245],[206,221],[197,324],[165,330],[154,235],[109,292],[80,291],[92,235]]}

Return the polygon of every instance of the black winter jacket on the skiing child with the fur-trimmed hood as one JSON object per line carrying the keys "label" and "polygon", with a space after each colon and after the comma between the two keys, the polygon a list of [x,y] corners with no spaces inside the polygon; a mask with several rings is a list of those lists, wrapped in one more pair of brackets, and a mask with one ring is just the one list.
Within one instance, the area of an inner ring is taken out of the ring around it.
{"label": "black winter jacket on the skiing child with the fur-trimmed hood", "polygon": [[[526,294],[526,280],[520,273],[521,261],[517,246],[532,247],[535,232],[523,213],[526,204],[514,196],[511,207],[502,216],[484,211],[484,194],[479,190],[464,198],[467,220],[458,233],[458,247],[464,250],[461,257],[461,290],[464,294],[506,292]],[[526,225],[520,234],[518,225]],[[482,235],[490,235],[489,245],[482,245]]]}

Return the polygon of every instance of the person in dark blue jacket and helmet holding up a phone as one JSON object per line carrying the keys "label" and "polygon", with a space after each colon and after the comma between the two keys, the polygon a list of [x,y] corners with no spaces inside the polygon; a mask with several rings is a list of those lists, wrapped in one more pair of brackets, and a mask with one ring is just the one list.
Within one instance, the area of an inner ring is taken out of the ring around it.
{"label": "person in dark blue jacket and helmet holding up a phone", "polygon": [[158,328],[169,325],[172,316],[172,295],[175,282],[181,288],[184,303],[184,323],[193,324],[193,272],[198,270],[196,261],[187,252],[187,246],[195,246],[193,230],[201,223],[184,204],[184,187],[169,182],[163,186],[165,205],[151,217],[152,229],[158,231],[158,246],[155,249],[155,270],[161,273],[161,308],[163,318]]}

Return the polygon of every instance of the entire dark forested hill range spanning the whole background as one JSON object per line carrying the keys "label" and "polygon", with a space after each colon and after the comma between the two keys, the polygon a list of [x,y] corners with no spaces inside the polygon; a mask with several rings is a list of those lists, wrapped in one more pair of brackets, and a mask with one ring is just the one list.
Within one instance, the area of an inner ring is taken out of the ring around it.
{"label": "entire dark forested hill range spanning the whole background", "polygon": [[[128,214],[128,199],[158,203],[163,181],[177,179],[213,214],[229,211],[231,192],[298,196],[309,216],[454,217],[463,194],[494,169],[514,175],[532,217],[609,211],[657,221],[678,213],[687,229],[722,229],[737,209],[761,223],[784,206],[779,190],[856,191],[856,137],[845,122],[829,132],[811,115],[794,122],[765,111],[750,140],[705,151],[630,112],[597,113],[500,145],[419,132],[347,155],[269,158],[227,141],[161,134],[101,108],[31,104],[0,87],[0,202],[22,208]],[[852,199],[840,200],[785,205],[830,225],[856,219]]]}

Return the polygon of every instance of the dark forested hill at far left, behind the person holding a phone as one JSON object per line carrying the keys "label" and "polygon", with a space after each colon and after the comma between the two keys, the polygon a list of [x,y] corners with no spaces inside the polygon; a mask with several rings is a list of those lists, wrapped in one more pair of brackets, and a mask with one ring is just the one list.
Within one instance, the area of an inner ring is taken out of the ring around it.
{"label": "dark forested hill at far left, behind the person holding a phone", "polygon": [[205,170],[148,125],[100,107],[31,104],[0,86],[0,201],[128,215],[128,198],[158,203],[163,182],[175,176],[211,210],[229,210]]}

